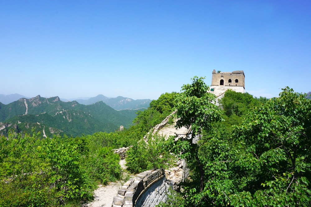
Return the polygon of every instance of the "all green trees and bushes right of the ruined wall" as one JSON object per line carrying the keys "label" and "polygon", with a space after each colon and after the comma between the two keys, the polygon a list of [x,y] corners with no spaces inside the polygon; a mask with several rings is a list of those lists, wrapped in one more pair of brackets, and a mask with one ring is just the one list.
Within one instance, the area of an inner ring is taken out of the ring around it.
{"label": "all green trees and bushes right of the ruined wall", "polygon": [[[171,152],[186,158],[192,174],[184,191],[169,203],[311,206],[311,102],[305,94],[286,87],[279,97],[267,100],[227,91],[220,108],[209,101],[202,106],[202,79],[194,77],[179,95],[179,117],[188,117],[180,125],[192,124],[193,133],[202,132],[202,137],[196,144],[193,137],[171,139]],[[201,104],[192,108],[185,103]]]}

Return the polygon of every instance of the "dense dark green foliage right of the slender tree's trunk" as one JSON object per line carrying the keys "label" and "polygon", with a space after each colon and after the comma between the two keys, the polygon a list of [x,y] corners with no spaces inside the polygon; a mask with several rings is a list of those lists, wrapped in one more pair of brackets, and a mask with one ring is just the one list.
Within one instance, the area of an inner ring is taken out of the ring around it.
{"label": "dense dark green foliage right of the slender tree's trunk", "polygon": [[185,187],[187,204],[310,206],[309,137],[311,102],[288,87],[248,110],[239,126],[212,124],[198,148],[204,190],[197,191],[193,176]]}

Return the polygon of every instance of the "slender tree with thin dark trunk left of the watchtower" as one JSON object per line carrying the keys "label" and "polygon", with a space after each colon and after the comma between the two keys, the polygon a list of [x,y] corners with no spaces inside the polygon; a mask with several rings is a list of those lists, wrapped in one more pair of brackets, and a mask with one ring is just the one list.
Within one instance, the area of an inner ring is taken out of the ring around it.
{"label": "slender tree with thin dark trunk left of the watchtower", "polygon": [[203,77],[194,76],[192,84],[183,85],[181,92],[177,95],[176,128],[191,127],[192,135],[189,138],[175,141],[172,146],[175,155],[179,155],[188,162],[194,158],[200,175],[200,191],[204,188],[204,168],[198,156],[199,143],[195,141],[195,137],[200,135],[202,129],[210,130],[212,122],[222,120],[221,111],[212,103],[216,97],[207,92],[209,87],[203,80]]}

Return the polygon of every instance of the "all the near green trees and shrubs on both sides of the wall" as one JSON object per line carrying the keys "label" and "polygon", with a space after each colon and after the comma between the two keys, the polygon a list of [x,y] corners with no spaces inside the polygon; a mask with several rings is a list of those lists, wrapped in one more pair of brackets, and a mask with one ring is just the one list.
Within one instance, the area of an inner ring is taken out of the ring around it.
{"label": "all the near green trees and shrubs on both sides of the wall", "polygon": [[[126,158],[132,173],[186,159],[190,179],[161,206],[311,206],[310,99],[288,87],[270,100],[229,90],[217,107],[203,80],[195,76],[180,93],[162,94],[123,131],[1,136],[0,206],[91,200],[98,183],[121,177],[112,149],[126,146],[133,146]],[[175,109],[176,126],[191,127],[192,137],[140,141]]]}

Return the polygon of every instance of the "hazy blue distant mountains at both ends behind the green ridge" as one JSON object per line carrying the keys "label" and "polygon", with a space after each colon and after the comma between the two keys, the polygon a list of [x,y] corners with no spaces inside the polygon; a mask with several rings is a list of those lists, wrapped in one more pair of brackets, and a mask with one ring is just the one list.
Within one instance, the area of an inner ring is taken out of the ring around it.
{"label": "hazy blue distant mountains at both ends behind the green ridge", "polygon": [[[29,97],[25,97],[17,93],[10,94],[10,95],[0,94],[0,102],[3,104],[12,103],[13,101],[17,101],[20,98],[29,99]],[[83,99],[83,98],[63,99],[61,98],[60,100],[64,102],[77,101],[78,103],[84,104],[84,105],[90,105],[98,101],[103,101],[104,103],[106,103],[108,106],[112,107],[115,110],[124,110],[124,109],[136,110],[136,109],[148,108],[150,105],[150,102],[152,101],[150,99],[134,100],[134,99],[122,97],[122,96],[118,96],[116,98],[109,98],[101,94],[97,95],[96,97],[91,97],[87,99]]]}

